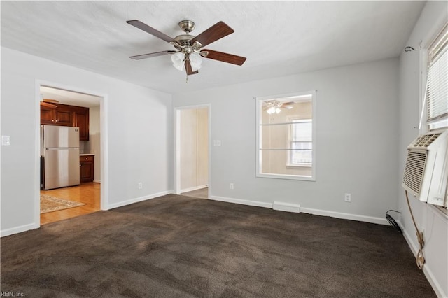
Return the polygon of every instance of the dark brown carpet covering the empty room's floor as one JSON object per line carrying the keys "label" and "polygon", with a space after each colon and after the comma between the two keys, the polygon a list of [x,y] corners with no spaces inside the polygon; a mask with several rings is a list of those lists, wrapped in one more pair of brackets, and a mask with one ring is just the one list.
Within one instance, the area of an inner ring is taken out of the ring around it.
{"label": "dark brown carpet covering the empty room's floor", "polygon": [[392,227],[167,195],[1,239],[27,297],[435,297]]}

